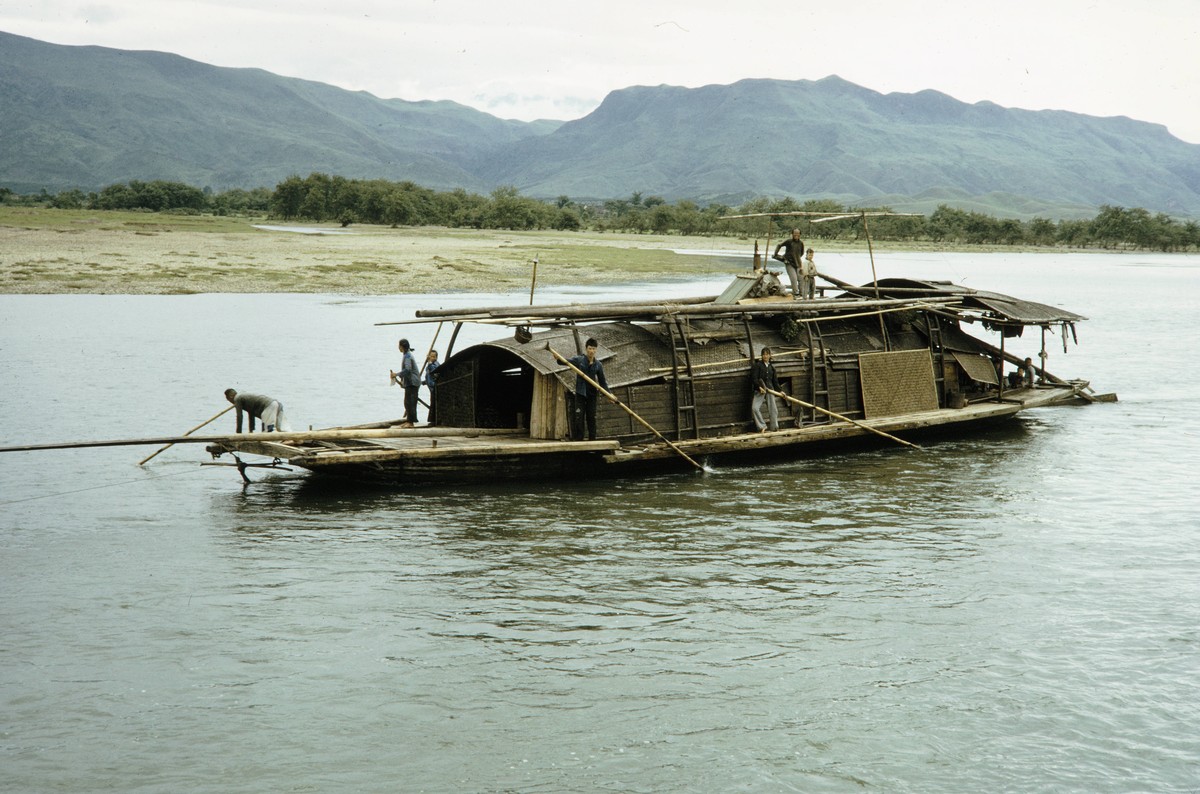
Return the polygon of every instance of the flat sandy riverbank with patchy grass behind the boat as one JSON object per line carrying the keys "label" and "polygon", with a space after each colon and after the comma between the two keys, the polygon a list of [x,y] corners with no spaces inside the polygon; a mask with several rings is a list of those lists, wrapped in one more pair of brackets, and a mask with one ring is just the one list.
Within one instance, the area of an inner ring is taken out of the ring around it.
{"label": "flat sandy riverbank with patchy grass behind the boat", "polygon": [[289,224],[319,230],[305,234],[256,225],[283,224],[0,206],[0,293],[506,290],[528,288],[534,257],[541,284],[599,284],[730,271],[728,260],[672,248],[754,249],[744,237]]}

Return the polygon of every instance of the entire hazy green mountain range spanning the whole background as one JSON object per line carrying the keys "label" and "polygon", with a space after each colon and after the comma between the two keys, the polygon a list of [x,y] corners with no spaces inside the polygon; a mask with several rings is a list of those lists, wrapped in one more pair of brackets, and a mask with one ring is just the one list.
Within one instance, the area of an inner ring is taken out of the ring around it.
{"label": "entire hazy green mountain range spanning the whole background", "polygon": [[635,86],[569,121],[380,100],[156,52],[0,32],[0,186],[214,190],[324,172],[436,190],[739,203],[756,196],[1015,217],[1102,204],[1200,217],[1200,145],[1127,118],[880,94],[838,77]]}

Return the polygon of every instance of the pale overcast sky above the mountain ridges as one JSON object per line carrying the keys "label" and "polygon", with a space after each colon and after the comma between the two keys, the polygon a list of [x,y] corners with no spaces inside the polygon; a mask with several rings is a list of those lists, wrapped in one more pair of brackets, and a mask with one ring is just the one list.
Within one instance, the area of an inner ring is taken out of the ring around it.
{"label": "pale overcast sky above the mountain ridges", "polygon": [[1200,143],[1200,0],[0,0],[0,30],[506,119],[578,119],[629,85],[839,74]]}

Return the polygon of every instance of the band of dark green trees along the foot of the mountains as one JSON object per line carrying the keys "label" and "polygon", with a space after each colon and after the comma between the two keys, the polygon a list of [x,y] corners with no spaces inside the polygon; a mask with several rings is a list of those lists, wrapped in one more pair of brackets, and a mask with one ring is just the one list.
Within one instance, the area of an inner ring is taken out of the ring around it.
{"label": "band of dark green trees along the foot of the mountains", "polygon": [[[566,196],[542,200],[522,196],[515,187],[499,187],[487,196],[462,188],[434,191],[410,181],[347,179],[313,173],[293,175],[274,190],[234,188],[212,192],[169,181],[130,181],[98,192],[64,191],[18,196],[0,187],[0,203],[61,209],[145,210],[214,215],[265,215],[283,221],[384,224],[391,227],[442,225],[474,229],[554,229],[678,235],[762,235],[762,218],[722,221],[728,215],[766,212],[826,212],[856,215],[862,210],[838,201],[792,198],[756,198],[737,206],[700,205],[682,199],[634,193],[624,199],[578,201]],[[997,218],[983,212],[938,206],[929,216],[869,218],[874,240],[983,246],[1064,246],[1075,248],[1140,248],[1163,252],[1200,249],[1200,223],[1178,221],[1141,207],[1104,205],[1091,219],[1031,221]],[[857,217],[810,224],[803,217],[778,218],[775,233],[799,227],[806,239],[862,240]]]}

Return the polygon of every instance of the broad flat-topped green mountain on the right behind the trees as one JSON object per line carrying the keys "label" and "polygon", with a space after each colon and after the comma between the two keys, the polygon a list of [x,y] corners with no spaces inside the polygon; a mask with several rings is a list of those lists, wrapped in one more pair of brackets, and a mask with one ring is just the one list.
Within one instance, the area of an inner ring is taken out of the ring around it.
{"label": "broad flat-topped green mountain on the right behind the trees", "polygon": [[1160,125],[878,94],[838,77],[614,91],[590,115],[473,168],[545,194],[1200,210],[1200,145]]}

